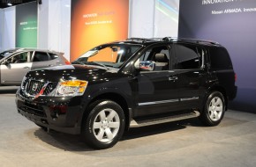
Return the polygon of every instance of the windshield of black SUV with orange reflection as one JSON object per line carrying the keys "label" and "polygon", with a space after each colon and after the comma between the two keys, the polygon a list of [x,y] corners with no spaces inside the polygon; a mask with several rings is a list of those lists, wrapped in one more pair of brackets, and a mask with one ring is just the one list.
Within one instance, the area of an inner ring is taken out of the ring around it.
{"label": "windshield of black SUV with orange reflection", "polygon": [[93,64],[102,67],[120,68],[141,46],[132,44],[108,44],[82,54],[72,64]]}

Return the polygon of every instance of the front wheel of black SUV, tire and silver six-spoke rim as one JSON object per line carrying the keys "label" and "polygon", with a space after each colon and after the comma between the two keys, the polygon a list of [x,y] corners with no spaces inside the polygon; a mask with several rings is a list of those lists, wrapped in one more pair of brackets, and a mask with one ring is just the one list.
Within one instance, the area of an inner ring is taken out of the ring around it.
{"label": "front wheel of black SUV, tire and silver six-spoke rim", "polygon": [[101,100],[89,106],[83,120],[82,135],[87,145],[94,149],[113,147],[124,134],[124,111],[114,101]]}

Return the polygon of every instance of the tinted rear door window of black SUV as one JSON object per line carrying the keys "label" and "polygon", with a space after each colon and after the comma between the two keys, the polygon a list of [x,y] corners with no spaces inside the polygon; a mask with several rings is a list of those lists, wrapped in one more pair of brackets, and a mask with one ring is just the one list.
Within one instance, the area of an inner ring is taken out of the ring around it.
{"label": "tinted rear door window of black SUV", "polygon": [[176,45],[177,69],[200,69],[203,63],[204,49],[187,44]]}

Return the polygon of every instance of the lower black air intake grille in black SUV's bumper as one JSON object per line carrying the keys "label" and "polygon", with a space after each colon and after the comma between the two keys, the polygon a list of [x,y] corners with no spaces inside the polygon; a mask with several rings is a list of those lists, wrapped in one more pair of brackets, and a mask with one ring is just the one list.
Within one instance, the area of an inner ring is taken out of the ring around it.
{"label": "lower black air intake grille in black SUV's bumper", "polygon": [[40,117],[46,117],[46,114],[44,113],[43,108],[39,105],[24,103],[19,106],[19,109],[21,109],[22,111],[24,111],[26,113],[31,113],[33,115],[37,115]]}

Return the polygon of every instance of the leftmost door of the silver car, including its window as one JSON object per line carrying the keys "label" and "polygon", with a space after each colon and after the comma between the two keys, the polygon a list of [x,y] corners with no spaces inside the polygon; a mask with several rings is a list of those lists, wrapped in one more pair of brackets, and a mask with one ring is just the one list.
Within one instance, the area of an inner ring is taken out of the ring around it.
{"label": "leftmost door of the silver car, including its window", "polygon": [[32,52],[22,52],[11,55],[6,61],[8,64],[1,64],[1,84],[20,84],[23,76],[31,70],[32,62],[30,55]]}

